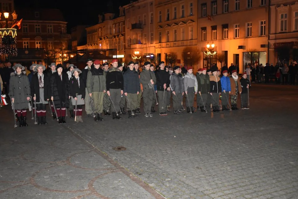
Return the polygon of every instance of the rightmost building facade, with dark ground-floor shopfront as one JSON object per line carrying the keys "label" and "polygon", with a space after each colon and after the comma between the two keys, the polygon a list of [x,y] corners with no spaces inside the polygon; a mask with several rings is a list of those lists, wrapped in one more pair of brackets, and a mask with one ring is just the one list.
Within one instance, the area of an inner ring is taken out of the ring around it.
{"label": "rightmost building facade, with dark ground-floor shopfront", "polygon": [[270,1],[269,62],[298,59],[298,2]]}

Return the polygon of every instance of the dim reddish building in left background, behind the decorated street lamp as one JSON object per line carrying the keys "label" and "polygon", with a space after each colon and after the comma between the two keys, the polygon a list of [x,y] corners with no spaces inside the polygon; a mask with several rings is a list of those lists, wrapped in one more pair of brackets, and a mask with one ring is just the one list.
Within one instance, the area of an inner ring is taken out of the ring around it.
{"label": "dim reddish building in left background, behind the decorated street lamp", "polygon": [[[17,47],[68,50],[70,34],[62,12],[57,9],[18,8],[18,18],[23,18],[17,30]],[[51,13],[51,14],[48,14]]]}

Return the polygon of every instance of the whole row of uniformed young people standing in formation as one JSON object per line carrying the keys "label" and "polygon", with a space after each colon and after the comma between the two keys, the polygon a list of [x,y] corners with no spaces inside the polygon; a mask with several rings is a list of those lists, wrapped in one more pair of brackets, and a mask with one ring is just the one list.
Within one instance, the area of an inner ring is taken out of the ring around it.
{"label": "whole row of uniformed young people standing in formation", "polygon": [[194,113],[195,96],[197,109],[201,112],[207,112],[210,108],[217,112],[221,106],[222,110],[237,110],[238,94],[241,96],[241,108],[249,109],[250,81],[245,72],[240,80],[236,70],[230,76],[227,70],[222,71],[221,75],[218,68],[212,66],[208,70],[198,69],[195,76],[190,66],[186,67],[187,72],[184,74],[179,66],[169,71],[165,62],[160,62],[156,68],[150,62],[145,62],[142,71],[139,70],[138,62],[129,62],[124,72],[117,59],[112,60],[111,64],[106,62],[102,65],[99,60],[93,62],[88,59],[83,71],[73,64],[67,66],[66,73],[63,72],[62,64],[52,63],[50,67],[51,70],[44,73],[45,66],[32,64],[30,70],[34,74],[30,83],[24,66],[16,64],[13,67],[15,72],[11,73],[9,96],[20,127],[28,126],[26,116],[29,101],[35,104],[33,111],[36,112],[38,124],[47,124],[47,104],[58,123],[66,123],[67,109],[70,118],[83,122],[83,105],[87,116],[92,116],[94,121],[103,121],[103,116],[107,115],[121,119],[120,115],[123,117],[127,114],[125,103],[128,118],[139,117],[141,98],[145,117],[153,116],[155,105],[158,105],[159,114],[166,116],[170,111],[171,97],[174,114],[182,114],[185,110],[183,97],[186,98],[187,113]]}

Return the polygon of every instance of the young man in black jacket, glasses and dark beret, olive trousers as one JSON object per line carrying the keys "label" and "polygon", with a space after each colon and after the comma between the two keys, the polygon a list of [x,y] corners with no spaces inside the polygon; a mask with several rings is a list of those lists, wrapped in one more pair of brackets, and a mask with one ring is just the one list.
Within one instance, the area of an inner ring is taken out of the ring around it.
{"label": "young man in black jacket, glasses and dark beret, olive trousers", "polygon": [[169,73],[165,71],[165,62],[160,62],[159,66],[160,69],[156,71],[157,96],[159,99],[158,108],[160,115],[167,115],[165,90],[170,90],[170,76]]}

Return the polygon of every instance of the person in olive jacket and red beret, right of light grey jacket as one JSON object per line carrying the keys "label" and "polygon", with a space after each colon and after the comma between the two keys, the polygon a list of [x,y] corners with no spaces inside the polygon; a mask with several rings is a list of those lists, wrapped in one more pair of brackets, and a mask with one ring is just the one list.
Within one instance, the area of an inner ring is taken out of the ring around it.
{"label": "person in olive jacket and red beret, right of light grey jacket", "polygon": [[205,112],[207,110],[204,109],[204,104],[205,107],[207,107],[207,99],[210,96],[210,77],[207,74],[207,68],[202,69],[202,73],[197,77],[197,82],[198,82],[198,93],[197,98],[199,98],[199,104],[200,104],[200,109],[201,112]]}

